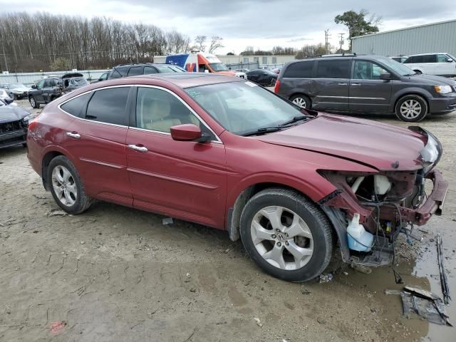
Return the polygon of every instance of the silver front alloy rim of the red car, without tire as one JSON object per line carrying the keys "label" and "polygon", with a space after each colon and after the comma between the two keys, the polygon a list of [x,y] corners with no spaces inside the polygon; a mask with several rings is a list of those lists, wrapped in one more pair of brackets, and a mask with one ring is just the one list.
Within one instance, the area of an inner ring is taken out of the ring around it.
{"label": "silver front alloy rim of the red car, without tire", "polygon": [[252,219],[250,234],[259,255],[279,269],[301,269],[314,254],[314,239],[306,222],[285,207],[259,210]]}

